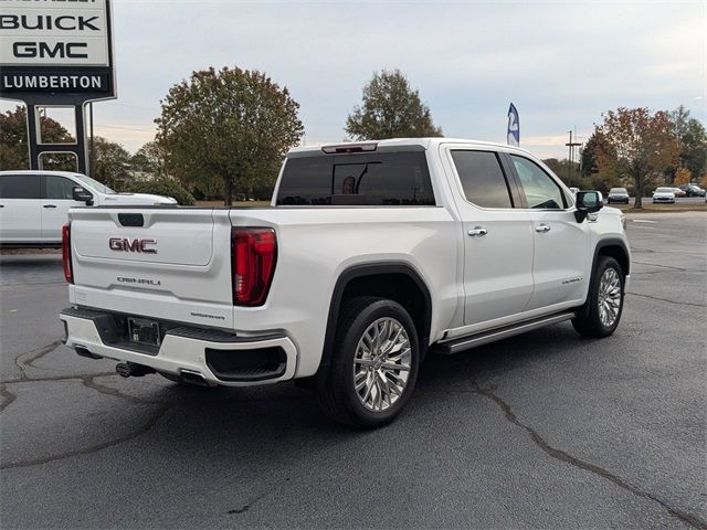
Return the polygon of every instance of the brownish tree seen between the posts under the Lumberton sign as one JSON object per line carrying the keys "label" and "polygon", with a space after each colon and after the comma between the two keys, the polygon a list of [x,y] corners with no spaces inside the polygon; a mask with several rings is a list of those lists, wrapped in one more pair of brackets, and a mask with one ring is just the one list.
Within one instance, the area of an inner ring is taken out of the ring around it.
{"label": "brownish tree seen between the posts under the Lumberton sign", "polygon": [[[73,141],[68,130],[52,118],[40,116],[40,126],[46,144]],[[75,171],[76,158],[65,153],[48,153],[42,157],[42,166],[44,169]],[[14,110],[0,114],[0,170],[6,169],[30,169],[27,108],[19,105]]]}

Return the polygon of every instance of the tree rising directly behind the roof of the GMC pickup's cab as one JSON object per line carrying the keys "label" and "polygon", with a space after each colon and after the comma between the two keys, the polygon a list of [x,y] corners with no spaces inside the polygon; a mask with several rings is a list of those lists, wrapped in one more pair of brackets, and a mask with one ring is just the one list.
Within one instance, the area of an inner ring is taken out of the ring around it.
{"label": "tree rising directly behind the roof of the GMC pickup's cab", "polygon": [[430,108],[399,70],[374,73],[362,99],[346,119],[346,134],[356,140],[442,136]]}

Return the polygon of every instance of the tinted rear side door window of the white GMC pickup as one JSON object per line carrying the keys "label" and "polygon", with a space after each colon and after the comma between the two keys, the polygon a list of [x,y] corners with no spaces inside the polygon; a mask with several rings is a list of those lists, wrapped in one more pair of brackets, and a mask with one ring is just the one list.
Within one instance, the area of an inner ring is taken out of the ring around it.
{"label": "tinted rear side door window of the white GMC pickup", "polygon": [[467,201],[483,208],[513,208],[508,183],[495,152],[453,150],[452,159]]}

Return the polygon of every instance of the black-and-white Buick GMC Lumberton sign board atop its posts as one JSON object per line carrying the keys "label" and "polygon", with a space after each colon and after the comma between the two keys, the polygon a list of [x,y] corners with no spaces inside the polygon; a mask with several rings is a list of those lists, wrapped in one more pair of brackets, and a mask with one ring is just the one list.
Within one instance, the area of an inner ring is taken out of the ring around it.
{"label": "black-and-white Buick GMC Lumberton sign board atop its posts", "polygon": [[0,0],[0,95],[115,97],[108,0]]}

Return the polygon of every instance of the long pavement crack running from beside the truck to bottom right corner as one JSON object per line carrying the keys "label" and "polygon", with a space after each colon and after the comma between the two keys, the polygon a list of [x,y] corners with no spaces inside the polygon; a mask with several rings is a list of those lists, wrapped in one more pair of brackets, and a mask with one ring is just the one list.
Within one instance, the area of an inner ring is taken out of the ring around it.
{"label": "long pavement crack running from beside the truck to bottom right corner", "polygon": [[500,396],[498,396],[498,394],[496,394],[495,389],[493,388],[484,389],[475,381],[472,381],[472,386],[473,386],[472,393],[483,395],[484,398],[487,398],[488,400],[496,403],[496,405],[498,405],[498,407],[503,411],[506,420],[513,423],[514,425],[526,431],[529,434],[530,439],[532,439],[532,443],[537,445],[540,449],[542,449],[542,452],[548,456],[550,456],[551,458],[555,458],[556,460],[564,462],[579,469],[592,473],[606,480],[610,480],[616,486],[619,486],[620,488],[625,489],[626,491],[637,497],[650,499],[661,505],[671,516],[679,519],[680,521],[689,524],[690,527],[697,528],[699,530],[707,530],[707,521],[701,520],[699,517],[693,513],[685,512],[677,508],[673,508],[667,502],[658,499],[657,497],[653,496],[652,494],[648,494],[647,491],[642,490],[637,486],[630,484],[629,481],[624,480],[618,475],[614,475],[613,473],[602,467],[599,467],[594,464],[577,458],[570,455],[569,453],[566,453],[562,449],[552,447],[535,428],[526,425],[520,420],[518,420],[518,416],[513,412],[513,409],[510,407],[510,405],[506,403]]}

